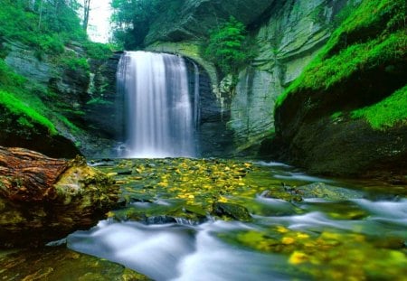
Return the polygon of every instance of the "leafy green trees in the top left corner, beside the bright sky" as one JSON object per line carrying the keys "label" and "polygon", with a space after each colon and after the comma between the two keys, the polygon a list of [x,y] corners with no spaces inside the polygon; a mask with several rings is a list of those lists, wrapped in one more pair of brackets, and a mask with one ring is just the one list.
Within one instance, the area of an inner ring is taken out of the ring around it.
{"label": "leafy green trees in the top left corner, beside the bright sky", "polygon": [[[5,40],[23,42],[43,53],[61,53],[71,40],[84,41],[86,34],[71,5],[62,0],[40,1],[0,0],[0,36]],[[70,1],[69,3],[73,3]]]}

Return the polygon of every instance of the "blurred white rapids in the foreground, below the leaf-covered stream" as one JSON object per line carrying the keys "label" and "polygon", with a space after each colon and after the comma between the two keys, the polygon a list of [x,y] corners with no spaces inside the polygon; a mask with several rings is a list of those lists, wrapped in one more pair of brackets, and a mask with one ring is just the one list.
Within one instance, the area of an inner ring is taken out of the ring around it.
{"label": "blurred white rapids in the foreground, below the leaf-covered stream", "polygon": [[[155,280],[287,280],[285,258],[234,248],[215,233],[251,229],[239,222],[215,221],[198,227],[101,221],[68,238],[69,248],[108,258]],[[275,267],[270,267],[274,265]]]}

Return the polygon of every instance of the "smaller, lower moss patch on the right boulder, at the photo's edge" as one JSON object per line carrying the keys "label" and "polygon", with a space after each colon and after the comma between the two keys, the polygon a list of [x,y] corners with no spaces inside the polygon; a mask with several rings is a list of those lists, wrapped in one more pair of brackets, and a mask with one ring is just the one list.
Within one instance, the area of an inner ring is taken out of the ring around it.
{"label": "smaller, lower moss patch on the right boulder, at the photo's edge", "polygon": [[407,85],[373,106],[352,111],[351,116],[364,117],[377,130],[400,123],[407,125]]}

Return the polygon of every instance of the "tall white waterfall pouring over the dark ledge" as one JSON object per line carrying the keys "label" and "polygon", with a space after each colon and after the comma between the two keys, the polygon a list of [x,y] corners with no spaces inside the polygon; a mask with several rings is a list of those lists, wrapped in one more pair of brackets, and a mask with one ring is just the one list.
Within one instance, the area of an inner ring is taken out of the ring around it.
{"label": "tall white waterfall pouring over the dark ledge", "polygon": [[125,52],[118,64],[118,90],[125,97],[125,156],[195,156],[193,110],[197,109],[191,99],[196,104],[197,94],[189,93],[183,58]]}

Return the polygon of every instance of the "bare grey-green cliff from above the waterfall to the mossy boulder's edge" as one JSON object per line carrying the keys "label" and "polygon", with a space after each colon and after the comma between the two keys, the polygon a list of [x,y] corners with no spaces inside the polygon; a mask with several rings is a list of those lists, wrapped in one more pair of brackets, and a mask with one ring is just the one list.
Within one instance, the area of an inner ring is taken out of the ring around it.
{"label": "bare grey-green cliff from above the waterfall to the mossy boulder's edge", "polygon": [[[327,42],[336,15],[347,2],[286,0],[253,4],[187,1],[177,7],[176,16],[179,18],[175,24],[163,22],[171,13],[161,15],[153,23],[147,35],[147,43],[151,43],[147,49],[181,53],[204,66],[222,111],[219,114],[222,121],[218,122],[227,123],[229,134],[225,141],[232,143],[234,152],[239,153],[253,145],[258,148],[260,141],[274,131],[276,98]],[[250,36],[259,48],[251,64],[241,70],[232,95],[224,86],[227,79],[220,81],[213,64],[200,57],[197,47],[208,30],[230,15],[247,24]],[[156,26],[161,26],[159,32]],[[252,155],[255,151],[249,153]]]}

